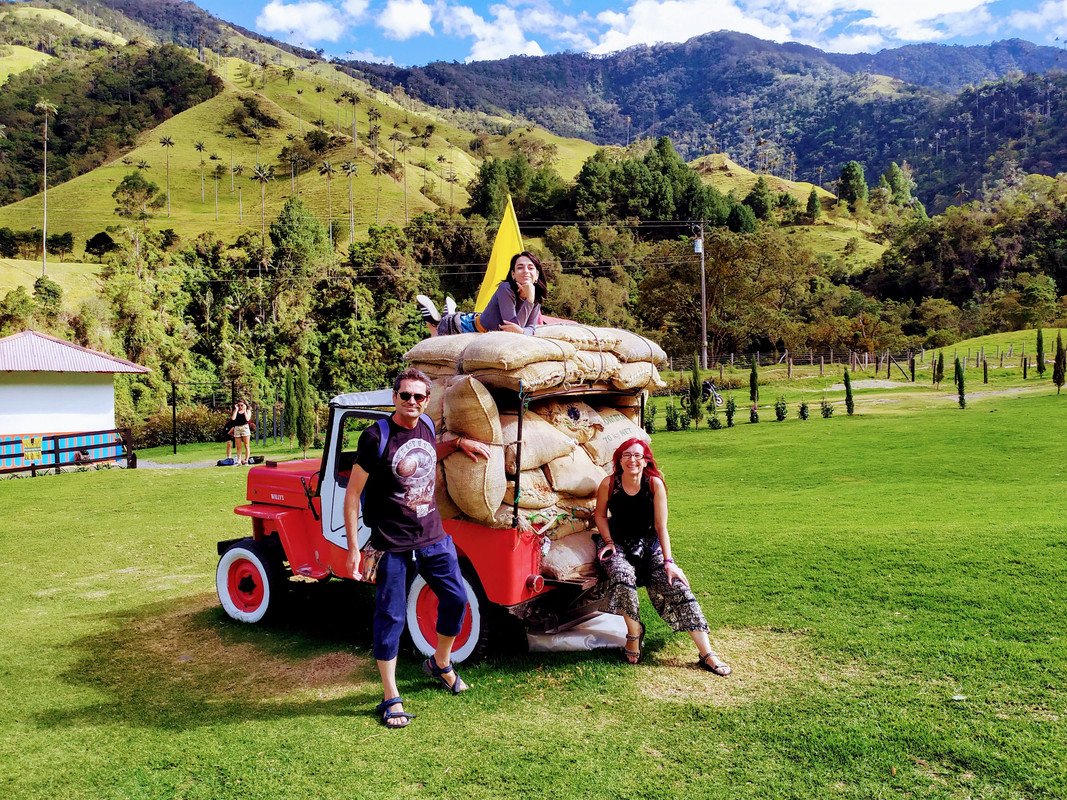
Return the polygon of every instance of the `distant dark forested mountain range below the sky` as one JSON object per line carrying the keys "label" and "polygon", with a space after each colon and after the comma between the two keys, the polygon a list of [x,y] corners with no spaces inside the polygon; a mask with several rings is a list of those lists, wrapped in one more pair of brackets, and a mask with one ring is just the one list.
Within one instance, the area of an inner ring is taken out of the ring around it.
{"label": "distant dark forested mountain range below the sky", "polygon": [[790,179],[826,185],[848,160],[880,172],[908,159],[921,166],[918,194],[941,210],[958,202],[958,185],[974,192],[1009,161],[1050,176],[1063,169],[1063,58],[1018,41],[845,57],[719,32],[601,58],[359,68],[429,102],[519,114],[600,143],[666,134],[686,159],[729,151]]}

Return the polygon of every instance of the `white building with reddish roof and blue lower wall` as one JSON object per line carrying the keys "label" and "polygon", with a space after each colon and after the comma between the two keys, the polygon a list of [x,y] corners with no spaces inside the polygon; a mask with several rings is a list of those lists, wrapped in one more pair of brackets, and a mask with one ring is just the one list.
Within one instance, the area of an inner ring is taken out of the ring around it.
{"label": "white building with reddish roof and blue lower wall", "polygon": [[100,447],[114,442],[103,435],[115,428],[114,374],[150,371],[34,331],[0,339],[0,468],[20,466],[23,438],[51,434],[79,435],[54,439],[51,454],[46,442],[42,465],[73,462],[79,448],[118,454]]}

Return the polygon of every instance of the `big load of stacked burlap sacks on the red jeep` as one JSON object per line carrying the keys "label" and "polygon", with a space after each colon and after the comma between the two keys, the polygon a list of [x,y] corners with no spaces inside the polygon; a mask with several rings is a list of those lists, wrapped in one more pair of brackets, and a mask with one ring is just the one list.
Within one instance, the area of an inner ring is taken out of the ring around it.
{"label": "big load of stacked burlap sacks on the red jeep", "polygon": [[[648,441],[640,428],[640,394],[596,398],[591,404],[566,396],[532,400],[523,417],[520,471],[519,417],[499,413],[489,388],[515,391],[520,382],[528,393],[588,383],[651,388],[662,385],[656,363],[664,357],[655,342],[636,334],[584,325],[546,325],[535,337],[503,332],[439,336],[415,346],[405,358],[433,379],[427,413],[439,430],[446,437],[494,444],[489,460],[456,452],[442,462],[442,517],[542,535],[546,576],[594,575],[590,529],[596,489],[622,442]],[[602,404],[608,399],[611,405]]]}

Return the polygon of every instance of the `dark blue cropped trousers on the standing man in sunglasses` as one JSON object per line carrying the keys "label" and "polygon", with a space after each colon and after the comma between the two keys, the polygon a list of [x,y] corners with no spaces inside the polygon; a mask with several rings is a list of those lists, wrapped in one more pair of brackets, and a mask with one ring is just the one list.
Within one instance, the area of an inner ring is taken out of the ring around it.
{"label": "dark blue cropped trousers on the standing man in sunglasses", "polygon": [[408,571],[414,566],[437,595],[437,636],[458,636],[466,611],[466,590],[452,538],[404,553],[383,553],[375,578],[375,658],[388,661],[400,651],[408,611]]}

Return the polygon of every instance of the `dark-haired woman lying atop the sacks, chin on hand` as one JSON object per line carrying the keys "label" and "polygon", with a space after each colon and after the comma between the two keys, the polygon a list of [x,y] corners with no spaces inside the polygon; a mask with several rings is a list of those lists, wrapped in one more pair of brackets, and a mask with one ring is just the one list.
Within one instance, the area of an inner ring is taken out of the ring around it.
{"label": "dark-haired woman lying atop the sacks, chin on hand", "polygon": [[456,310],[448,298],[445,315],[425,294],[416,294],[419,314],[429,325],[437,326],[437,335],[509,331],[532,336],[541,322],[541,303],[547,286],[541,274],[541,261],[532,253],[520,253],[511,259],[511,272],[501,281],[481,314]]}

